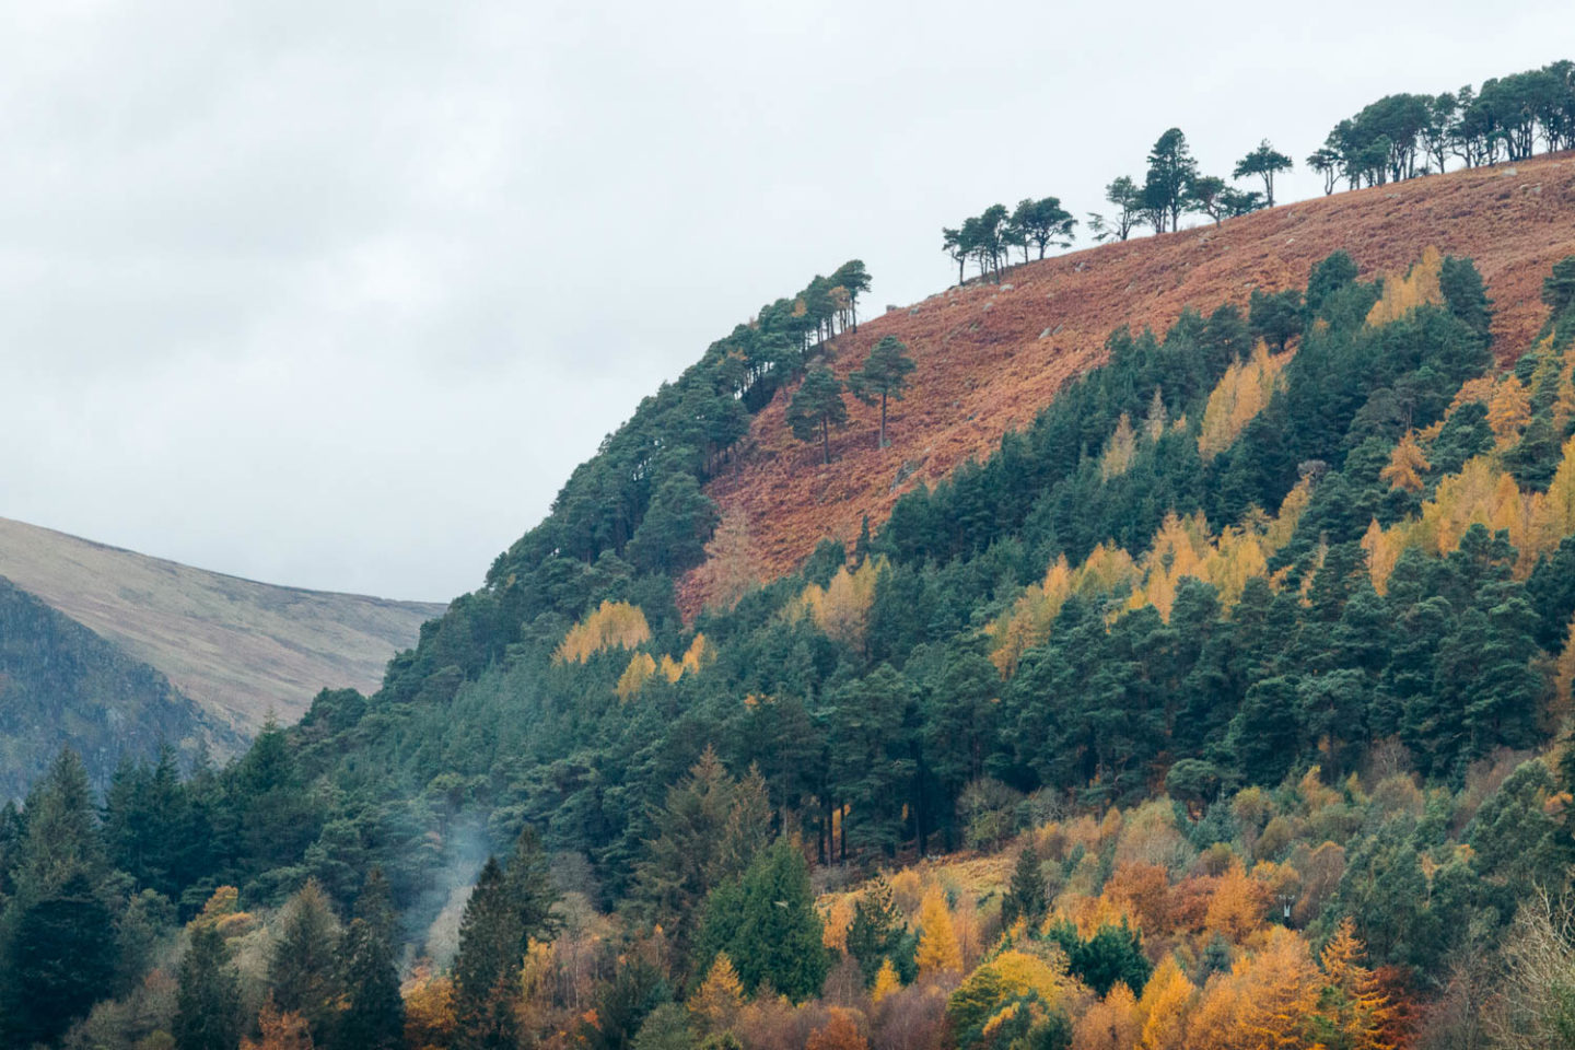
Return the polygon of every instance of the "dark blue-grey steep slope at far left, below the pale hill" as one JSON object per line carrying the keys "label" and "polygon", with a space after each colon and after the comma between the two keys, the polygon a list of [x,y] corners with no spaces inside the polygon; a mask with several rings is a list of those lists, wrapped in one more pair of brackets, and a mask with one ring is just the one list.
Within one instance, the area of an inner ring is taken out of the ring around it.
{"label": "dark blue-grey steep slope at far left, below the pale hill", "polygon": [[233,729],[170,680],[0,578],[0,800],[20,798],[69,746],[94,784],[159,743],[233,751]]}

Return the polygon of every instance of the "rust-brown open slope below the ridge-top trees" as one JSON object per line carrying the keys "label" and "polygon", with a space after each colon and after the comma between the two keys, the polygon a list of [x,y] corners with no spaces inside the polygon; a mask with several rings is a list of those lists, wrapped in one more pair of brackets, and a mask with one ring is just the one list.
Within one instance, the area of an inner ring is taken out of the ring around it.
{"label": "rust-brown open slope below the ridge-top trees", "polygon": [[[879,409],[849,398],[849,427],[833,434],[833,463],[821,466],[819,446],[788,431],[788,398],[778,395],[707,491],[728,526],[745,526],[754,570],[773,578],[821,538],[850,542],[863,515],[880,524],[915,485],[986,458],[1062,384],[1104,360],[1110,331],[1162,332],[1188,305],[1206,313],[1227,301],[1246,304],[1255,287],[1301,287],[1312,264],[1337,249],[1351,253],[1364,277],[1403,271],[1430,244],[1471,257],[1496,301],[1496,353],[1512,360],[1547,316],[1542,279],[1575,253],[1572,156],[1340,192],[1222,227],[1104,244],[1016,266],[1002,287],[951,288],[888,310],[836,338],[833,367],[846,376],[884,335],[907,343],[918,368],[907,400],[891,405],[891,447],[874,447]],[[945,264],[937,250],[937,269]],[[685,612],[706,601],[715,571],[701,567],[682,582]]]}

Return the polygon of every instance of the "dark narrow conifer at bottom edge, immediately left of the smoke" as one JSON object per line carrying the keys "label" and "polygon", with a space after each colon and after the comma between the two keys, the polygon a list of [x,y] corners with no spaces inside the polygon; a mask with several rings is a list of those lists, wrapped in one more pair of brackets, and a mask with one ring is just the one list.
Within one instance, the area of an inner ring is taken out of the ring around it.
{"label": "dark narrow conifer at bottom edge, immediately left of the smoke", "polygon": [[383,872],[372,869],[345,938],[345,1012],[334,1030],[342,1050],[397,1050],[405,1037],[398,990],[394,904]]}

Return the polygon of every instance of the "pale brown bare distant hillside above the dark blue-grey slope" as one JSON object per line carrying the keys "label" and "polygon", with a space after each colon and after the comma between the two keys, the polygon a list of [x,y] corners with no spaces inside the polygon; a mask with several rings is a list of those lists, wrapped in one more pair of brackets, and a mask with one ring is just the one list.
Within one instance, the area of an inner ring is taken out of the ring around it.
{"label": "pale brown bare distant hillside above the dark blue-grey slope", "polygon": [[443,612],[209,573],[5,518],[0,576],[162,672],[233,730],[220,745],[255,735],[269,712],[295,721],[318,690],[375,690],[389,656]]}

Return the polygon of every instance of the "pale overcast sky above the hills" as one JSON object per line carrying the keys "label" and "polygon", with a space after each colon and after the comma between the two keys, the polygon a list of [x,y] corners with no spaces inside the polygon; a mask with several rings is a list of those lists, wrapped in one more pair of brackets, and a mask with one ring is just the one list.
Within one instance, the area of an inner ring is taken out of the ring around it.
{"label": "pale overcast sky above the hills", "polygon": [[1364,104],[1575,58],[1567,0],[3,6],[0,516],[421,600],[817,272],[921,299],[1170,126],[1315,195]]}

